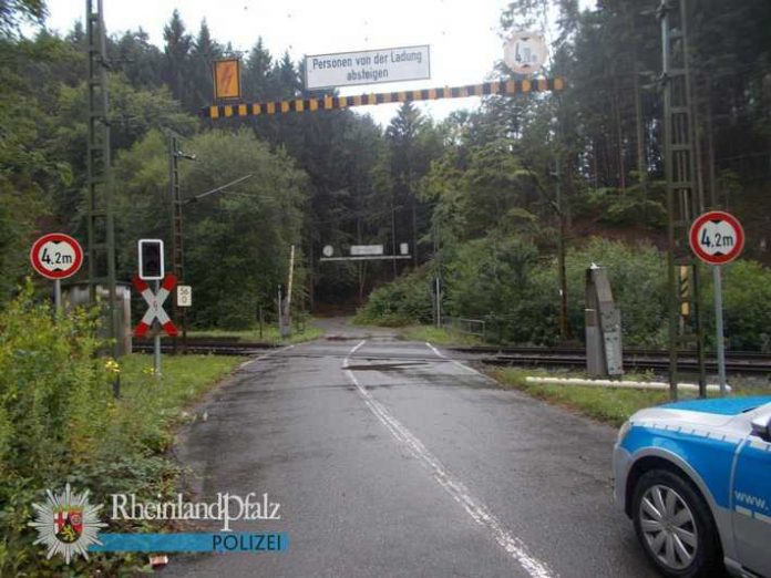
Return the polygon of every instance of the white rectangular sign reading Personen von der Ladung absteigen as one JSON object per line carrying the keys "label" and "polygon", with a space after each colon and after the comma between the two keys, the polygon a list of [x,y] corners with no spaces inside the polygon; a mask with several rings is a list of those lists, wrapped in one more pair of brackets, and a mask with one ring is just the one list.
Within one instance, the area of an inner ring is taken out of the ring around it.
{"label": "white rectangular sign reading Personen von der Ladung absteigen", "polygon": [[429,45],[316,54],[305,60],[306,90],[431,78]]}

